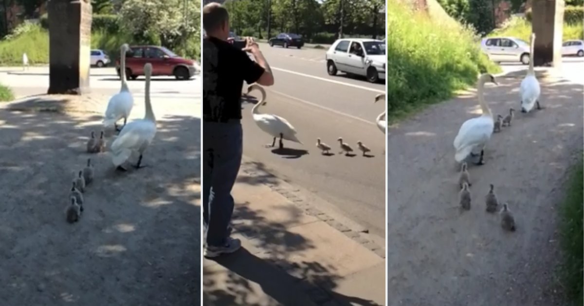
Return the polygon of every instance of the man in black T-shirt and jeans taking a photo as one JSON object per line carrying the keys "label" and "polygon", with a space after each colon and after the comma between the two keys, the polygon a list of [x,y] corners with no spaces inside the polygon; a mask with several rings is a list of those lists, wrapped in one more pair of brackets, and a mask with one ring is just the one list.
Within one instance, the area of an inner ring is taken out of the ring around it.
{"label": "man in black T-shirt and jeans taking a photo", "polygon": [[[272,86],[270,66],[252,38],[244,50],[227,42],[229,13],[219,3],[203,7],[203,255],[215,257],[241,248],[231,238],[235,184],[243,153],[241,92],[244,80]],[[256,61],[252,61],[250,52]]]}

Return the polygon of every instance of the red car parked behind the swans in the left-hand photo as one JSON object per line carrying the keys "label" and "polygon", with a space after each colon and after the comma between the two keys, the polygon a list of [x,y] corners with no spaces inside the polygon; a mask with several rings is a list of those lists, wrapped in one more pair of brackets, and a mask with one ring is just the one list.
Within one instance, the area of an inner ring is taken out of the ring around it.
{"label": "red car parked behind the swans in the left-hand photo", "polygon": [[[144,75],[144,65],[152,64],[152,76],[175,76],[178,80],[188,80],[195,73],[194,62],[179,57],[171,50],[156,45],[133,45],[126,53],[126,78],[135,80]],[[120,61],[116,61],[117,75],[120,75]]]}

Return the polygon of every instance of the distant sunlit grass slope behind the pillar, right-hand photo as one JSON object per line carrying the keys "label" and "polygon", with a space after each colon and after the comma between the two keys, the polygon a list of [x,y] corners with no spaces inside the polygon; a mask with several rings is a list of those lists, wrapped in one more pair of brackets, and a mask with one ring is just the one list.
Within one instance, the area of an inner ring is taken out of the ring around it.
{"label": "distant sunlit grass slope behind the pillar, right-hand photo", "polygon": [[[531,35],[531,22],[524,17],[511,17],[502,27],[489,33],[488,36],[510,36],[529,41]],[[582,23],[564,23],[563,40],[584,39],[584,26]],[[536,38],[537,39],[537,38]]]}

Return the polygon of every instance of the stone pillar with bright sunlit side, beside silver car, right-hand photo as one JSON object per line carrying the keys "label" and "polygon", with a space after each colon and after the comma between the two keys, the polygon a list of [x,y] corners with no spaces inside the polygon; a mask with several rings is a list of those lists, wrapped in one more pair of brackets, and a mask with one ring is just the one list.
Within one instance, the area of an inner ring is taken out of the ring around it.
{"label": "stone pillar with bright sunlit side, beside silver car, right-hand photo", "polygon": [[559,68],[562,64],[564,0],[534,0],[532,5],[531,27],[536,33],[533,65]]}

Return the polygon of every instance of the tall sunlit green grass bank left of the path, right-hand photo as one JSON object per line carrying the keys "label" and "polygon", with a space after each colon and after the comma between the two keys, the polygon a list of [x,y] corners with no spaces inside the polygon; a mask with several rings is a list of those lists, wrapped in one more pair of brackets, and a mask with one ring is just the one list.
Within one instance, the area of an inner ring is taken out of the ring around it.
{"label": "tall sunlit green grass bank left of the path, right-hand photo", "polygon": [[[474,31],[448,20],[432,20],[397,0],[387,12],[387,118],[404,118],[473,86],[498,65],[479,49]],[[446,15],[447,16],[447,15]]]}

